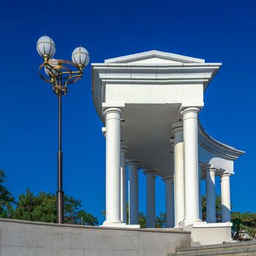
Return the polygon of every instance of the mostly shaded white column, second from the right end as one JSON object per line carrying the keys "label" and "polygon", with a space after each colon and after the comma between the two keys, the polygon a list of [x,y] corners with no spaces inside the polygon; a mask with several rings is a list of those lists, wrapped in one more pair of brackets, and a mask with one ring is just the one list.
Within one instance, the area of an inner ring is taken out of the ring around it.
{"label": "mostly shaded white column, second from the right end", "polygon": [[206,222],[216,222],[215,169],[206,167]]}

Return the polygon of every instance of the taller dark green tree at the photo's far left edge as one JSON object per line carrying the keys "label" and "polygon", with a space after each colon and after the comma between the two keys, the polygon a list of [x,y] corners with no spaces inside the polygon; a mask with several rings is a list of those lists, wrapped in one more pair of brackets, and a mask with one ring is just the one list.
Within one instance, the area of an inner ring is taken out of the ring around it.
{"label": "taller dark green tree at the photo's far left edge", "polygon": [[5,178],[4,171],[0,170],[0,218],[10,218],[12,208],[15,206],[14,197],[12,197],[9,190],[4,187]]}

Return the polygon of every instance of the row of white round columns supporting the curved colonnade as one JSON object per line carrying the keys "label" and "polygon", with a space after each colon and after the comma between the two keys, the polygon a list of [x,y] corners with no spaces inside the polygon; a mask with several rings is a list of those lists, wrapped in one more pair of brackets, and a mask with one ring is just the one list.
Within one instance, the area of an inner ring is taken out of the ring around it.
{"label": "row of white round columns supporting the curved colonnade", "polygon": [[[179,227],[201,222],[200,177],[206,178],[206,222],[216,222],[215,178],[217,169],[198,163],[197,122],[199,108],[181,111],[183,122],[172,124],[173,176],[165,182],[166,227]],[[107,108],[105,115],[106,137],[106,220],[103,225],[127,223],[127,173],[129,193],[129,225],[139,224],[138,169],[140,162],[127,159],[127,147],[121,147],[121,108]],[[170,167],[171,170],[171,167]],[[144,170],[146,175],[146,227],[155,227],[155,176],[157,172]],[[230,222],[230,174],[221,173],[222,222]]]}

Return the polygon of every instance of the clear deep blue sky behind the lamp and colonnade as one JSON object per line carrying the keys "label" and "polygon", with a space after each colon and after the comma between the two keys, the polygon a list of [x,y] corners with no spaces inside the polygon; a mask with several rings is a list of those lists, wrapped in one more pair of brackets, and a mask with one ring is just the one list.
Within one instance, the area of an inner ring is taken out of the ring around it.
{"label": "clear deep blue sky behind the lamp and colonnade", "polygon": [[[36,42],[49,35],[56,58],[82,45],[91,62],[162,50],[222,62],[200,120],[217,140],[246,151],[231,178],[234,211],[256,211],[256,1],[2,1],[0,8],[0,169],[17,197],[56,192],[58,102],[37,75]],[[91,97],[91,67],[63,104],[64,192],[103,220],[105,138]],[[140,173],[140,211],[145,211]],[[217,183],[218,191],[219,184]],[[157,179],[157,213],[165,211]]]}

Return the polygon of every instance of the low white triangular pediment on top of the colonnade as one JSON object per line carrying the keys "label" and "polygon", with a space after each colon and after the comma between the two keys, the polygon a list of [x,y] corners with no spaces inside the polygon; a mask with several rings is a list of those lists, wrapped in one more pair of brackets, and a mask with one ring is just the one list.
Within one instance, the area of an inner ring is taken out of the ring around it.
{"label": "low white triangular pediment on top of the colonnade", "polygon": [[175,53],[165,53],[159,50],[149,50],[113,59],[106,59],[105,63],[121,64],[176,64],[176,63],[204,63],[204,59],[192,58]]}

